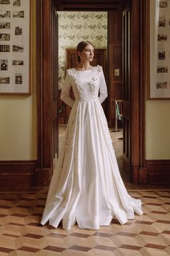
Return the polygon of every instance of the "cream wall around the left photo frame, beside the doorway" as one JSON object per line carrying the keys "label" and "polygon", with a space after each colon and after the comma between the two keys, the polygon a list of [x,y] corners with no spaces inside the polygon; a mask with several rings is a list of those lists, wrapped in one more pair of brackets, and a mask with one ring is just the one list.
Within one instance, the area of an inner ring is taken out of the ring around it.
{"label": "cream wall around the left photo frame, beside the doorway", "polygon": [[37,159],[35,0],[32,20],[32,95],[0,95],[0,161]]}

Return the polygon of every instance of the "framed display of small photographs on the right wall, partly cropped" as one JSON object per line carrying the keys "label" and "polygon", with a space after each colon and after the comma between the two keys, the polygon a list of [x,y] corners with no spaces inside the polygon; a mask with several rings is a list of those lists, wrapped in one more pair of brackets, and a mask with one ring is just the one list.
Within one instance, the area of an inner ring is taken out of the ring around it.
{"label": "framed display of small photographs on the right wall, partly cropped", "polygon": [[[151,10],[151,11],[150,11]],[[153,11],[154,10],[154,11]],[[150,0],[148,99],[170,99],[170,0]]]}

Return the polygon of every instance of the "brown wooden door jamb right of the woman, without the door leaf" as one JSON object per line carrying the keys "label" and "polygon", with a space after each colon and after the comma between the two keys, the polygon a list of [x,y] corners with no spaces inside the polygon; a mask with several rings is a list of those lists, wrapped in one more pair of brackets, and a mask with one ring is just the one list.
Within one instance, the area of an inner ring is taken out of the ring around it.
{"label": "brown wooden door jamb right of the woman, without the door leaf", "polygon": [[131,96],[131,175],[133,184],[148,184],[146,168],[146,4],[147,0],[131,1],[130,12],[130,82]]}

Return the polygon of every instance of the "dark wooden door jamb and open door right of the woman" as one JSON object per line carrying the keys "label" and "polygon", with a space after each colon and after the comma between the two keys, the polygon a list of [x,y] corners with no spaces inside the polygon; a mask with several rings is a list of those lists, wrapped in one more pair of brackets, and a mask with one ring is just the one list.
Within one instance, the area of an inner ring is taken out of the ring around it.
{"label": "dark wooden door jamb and open door right of the woman", "polygon": [[123,2],[123,167],[130,182],[145,184],[146,0]]}

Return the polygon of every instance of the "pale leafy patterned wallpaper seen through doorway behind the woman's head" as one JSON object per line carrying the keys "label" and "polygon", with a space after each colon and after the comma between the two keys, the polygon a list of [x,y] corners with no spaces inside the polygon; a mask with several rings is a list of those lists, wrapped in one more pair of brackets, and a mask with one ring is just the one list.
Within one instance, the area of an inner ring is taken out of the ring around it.
{"label": "pale leafy patterned wallpaper seen through doorway behind the woman's head", "polygon": [[58,88],[65,77],[66,48],[89,40],[96,48],[107,47],[107,12],[58,12]]}

